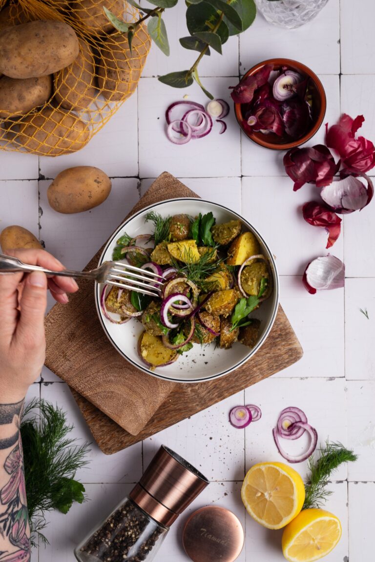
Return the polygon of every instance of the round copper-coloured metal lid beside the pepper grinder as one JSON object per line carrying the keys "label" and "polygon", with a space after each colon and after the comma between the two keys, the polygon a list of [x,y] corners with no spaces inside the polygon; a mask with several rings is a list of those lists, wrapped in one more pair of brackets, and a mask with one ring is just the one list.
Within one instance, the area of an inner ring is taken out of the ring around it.
{"label": "round copper-coloured metal lid beside the pepper grinder", "polygon": [[243,547],[243,528],[232,511],[218,506],[202,507],[187,520],[183,545],[193,562],[233,562]]}

